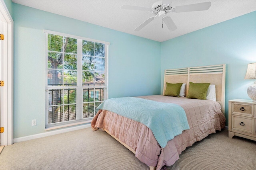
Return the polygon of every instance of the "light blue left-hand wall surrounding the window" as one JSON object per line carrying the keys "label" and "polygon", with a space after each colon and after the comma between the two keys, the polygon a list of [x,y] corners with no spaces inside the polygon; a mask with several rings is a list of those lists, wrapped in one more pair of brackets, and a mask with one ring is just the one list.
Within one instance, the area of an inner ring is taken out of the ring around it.
{"label": "light blue left-hand wall surrounding the window", "polygon": [[[160,94],[161,43],[19,4],[12,8],[14,138],[44,132],[44,29],[110,42],[109,98]],[[31,126],[32,119],[37,126]]]}

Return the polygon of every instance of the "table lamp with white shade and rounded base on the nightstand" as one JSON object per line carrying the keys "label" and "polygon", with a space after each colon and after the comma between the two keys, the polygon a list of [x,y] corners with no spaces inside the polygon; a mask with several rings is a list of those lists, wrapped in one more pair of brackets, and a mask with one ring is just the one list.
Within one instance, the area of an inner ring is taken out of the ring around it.
{"label": "table lamp with white shade and rounded base on the nightstand", "polygon": [[[256,79],[256,63],[248,64],[244,79]],[[256,102],[256,81],[248,87],[247,94],[252,102]]]}

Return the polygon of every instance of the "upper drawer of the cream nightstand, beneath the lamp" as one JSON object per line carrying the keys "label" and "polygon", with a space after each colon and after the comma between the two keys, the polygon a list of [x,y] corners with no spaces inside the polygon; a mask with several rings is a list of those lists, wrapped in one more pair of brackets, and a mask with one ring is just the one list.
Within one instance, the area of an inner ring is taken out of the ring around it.
{"label": "upper drawer of the cream nightstand, beneath the lamp", "polygon": [[238,104],[232,103],[232,113],[254,116],[254,105],[253,104]]}

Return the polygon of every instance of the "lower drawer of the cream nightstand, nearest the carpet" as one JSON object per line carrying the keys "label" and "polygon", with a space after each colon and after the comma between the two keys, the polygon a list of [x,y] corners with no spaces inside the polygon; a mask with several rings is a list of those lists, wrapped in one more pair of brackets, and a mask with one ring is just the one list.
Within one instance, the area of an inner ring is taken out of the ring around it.
{"label": "lower drawer of the cream nightstand, nearest the carpet", "polygon": [[254,134],[254,118],[232,115],[232,130]]}

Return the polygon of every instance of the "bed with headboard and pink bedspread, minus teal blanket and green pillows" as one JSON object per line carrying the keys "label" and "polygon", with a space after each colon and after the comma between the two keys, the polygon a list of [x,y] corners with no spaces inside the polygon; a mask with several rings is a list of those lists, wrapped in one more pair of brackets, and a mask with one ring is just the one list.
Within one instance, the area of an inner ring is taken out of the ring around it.
{"label": "bed with headboard and pink bedspread, minus teal blanket and green pillows", "polygon": [[[165,94],[166,82],[184,84],[185,97],[163,95],[136,97],[138,100],[176,104],[184,109],[189,129],[169,140],[164,147],[158,143],[155,133],[152,132],[153,129],[112,111],[100,109],[91,122],[94,131],[98,129],[106,131],[134,152],[135,156],[147,164],[150,170],[171,166],[179,159],[179,154],[186,147],[201,141],[216,130],[225,128],[225,64],[165,70],[163,94]],[[189,86],[192,87],[190,82],[215,85],[216,102],[186,98]]]}

